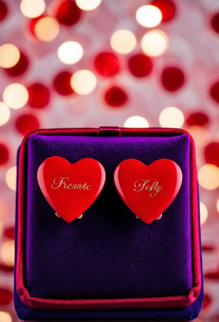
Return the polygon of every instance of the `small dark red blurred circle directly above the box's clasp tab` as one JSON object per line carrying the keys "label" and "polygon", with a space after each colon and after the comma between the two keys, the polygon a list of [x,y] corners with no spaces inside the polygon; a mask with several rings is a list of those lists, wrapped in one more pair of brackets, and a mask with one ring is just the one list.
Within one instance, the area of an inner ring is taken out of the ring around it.
{"label": "small dark red blurred circle directly above the box's clasp tab", "polygon": [[113,86],[106,91],[104,95],[105,101],[112,107],[119,107],[127,101],[127,94],[120,87]]}

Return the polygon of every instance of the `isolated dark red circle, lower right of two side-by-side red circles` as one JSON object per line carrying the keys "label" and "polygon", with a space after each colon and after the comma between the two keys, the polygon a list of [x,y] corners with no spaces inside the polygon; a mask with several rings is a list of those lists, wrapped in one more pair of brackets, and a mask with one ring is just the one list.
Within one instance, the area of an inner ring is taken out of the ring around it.
{"label": "isolated dark red circle, lower right of two side-by-side red circles", "polygon": [[184,74],[177,67],[166,67],[162,72],[161,81],[165,90],[174,92],[184,84]]}

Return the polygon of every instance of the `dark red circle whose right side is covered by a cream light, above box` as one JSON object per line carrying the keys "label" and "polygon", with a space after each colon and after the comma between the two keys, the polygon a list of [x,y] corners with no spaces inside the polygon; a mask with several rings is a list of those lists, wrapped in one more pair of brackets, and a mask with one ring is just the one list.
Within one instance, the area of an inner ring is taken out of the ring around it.
{"label": "dark red circle whose right side is covered by a cream light, above box", "polygon": [[53,86],[58,94],[70,95],[74,92],[70,84],[71,77],[72,74],[69,71],[62,71],[55,77]]}

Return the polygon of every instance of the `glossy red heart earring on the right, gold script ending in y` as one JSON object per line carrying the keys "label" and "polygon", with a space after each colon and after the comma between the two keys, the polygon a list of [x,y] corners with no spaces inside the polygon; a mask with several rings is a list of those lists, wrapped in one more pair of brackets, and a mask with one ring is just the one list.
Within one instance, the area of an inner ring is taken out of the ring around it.
{"label": "glossy red heart earring on the right, gold script ending in y", "polygon": [[131,211],[145,223],[151,223],[178,194],[182,171],[169,159],[156,160],[149,166],[136,159],[127,159],[116,167],[114,183]]}

